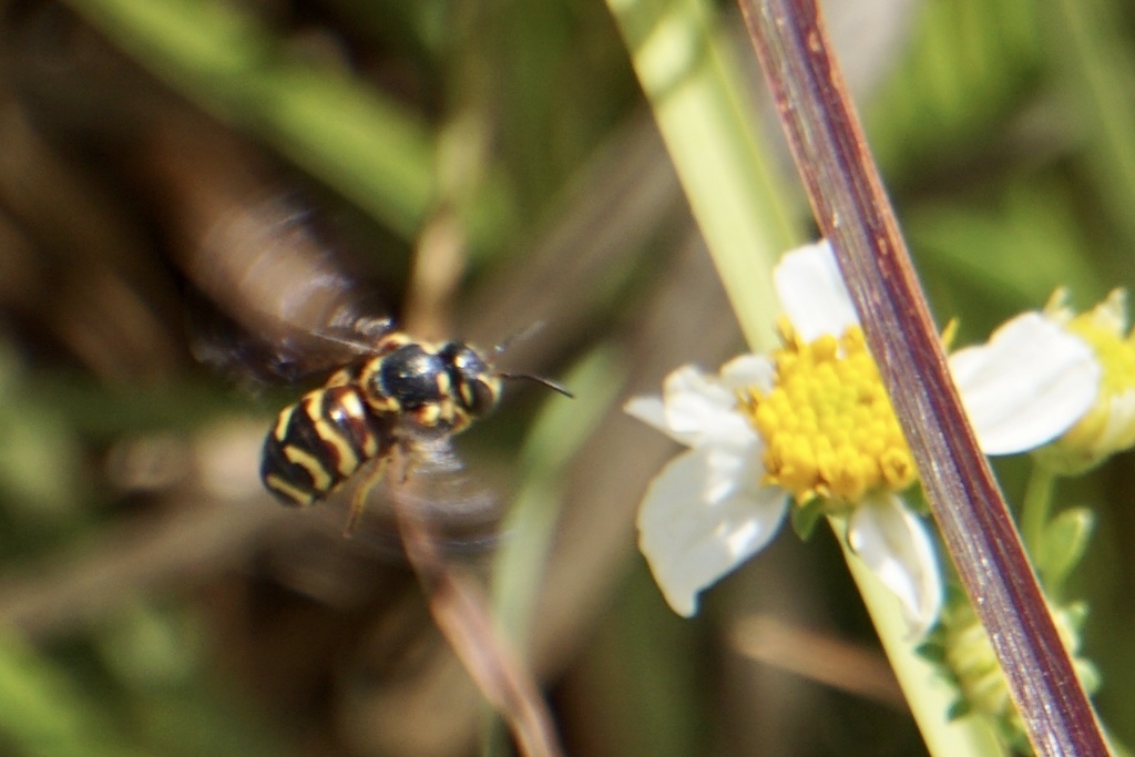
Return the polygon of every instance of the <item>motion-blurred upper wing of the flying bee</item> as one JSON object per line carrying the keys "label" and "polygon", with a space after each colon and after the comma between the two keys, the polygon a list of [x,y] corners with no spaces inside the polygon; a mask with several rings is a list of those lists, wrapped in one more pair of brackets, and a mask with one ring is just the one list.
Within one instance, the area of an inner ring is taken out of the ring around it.
{"label": "motion-blurred upper wing of the flying bee", "polygon": [[235,208],[186,263],[194,355],[230,378],[326,375],[393,329],[376,287],[287,196]]}

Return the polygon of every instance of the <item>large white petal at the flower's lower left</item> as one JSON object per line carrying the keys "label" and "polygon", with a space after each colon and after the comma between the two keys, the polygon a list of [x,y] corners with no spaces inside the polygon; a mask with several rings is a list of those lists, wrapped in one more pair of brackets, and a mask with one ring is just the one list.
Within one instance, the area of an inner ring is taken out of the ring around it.
{"label": "large white petal at the flower's lower left", "polygon": [[687,617],[698,592],[764,548],[784,519],[787,496],[775,487],[707,497],[712,468],[701,451],[682,453],[650,482],[639,510],[639,548],[666,602]]}

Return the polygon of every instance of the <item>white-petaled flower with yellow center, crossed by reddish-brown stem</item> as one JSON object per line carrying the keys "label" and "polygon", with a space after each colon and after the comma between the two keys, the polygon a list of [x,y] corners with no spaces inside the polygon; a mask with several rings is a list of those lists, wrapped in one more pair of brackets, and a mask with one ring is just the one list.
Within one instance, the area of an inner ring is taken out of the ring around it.
{"label": "white-petaled flower with yellow center, crossed by reddish-brown stem", "polygon": [[[774,281],[787,316],[781,350],[738,358],[717,375],[680,368],[662,398],[627,403],[689,447],[650,482],[639,547],[671,607],[692,615],[699,591],[772,540],[790,502],[819,497],[826,512],[847,515],[849,546],[922,636],[941,607],[938,560],[901,499],[916,471],[831,247],[785,254]],[[950,365],[990,454],[1051,441],[1099,385],[1087,345],[1040,313],[1010,320]]]}

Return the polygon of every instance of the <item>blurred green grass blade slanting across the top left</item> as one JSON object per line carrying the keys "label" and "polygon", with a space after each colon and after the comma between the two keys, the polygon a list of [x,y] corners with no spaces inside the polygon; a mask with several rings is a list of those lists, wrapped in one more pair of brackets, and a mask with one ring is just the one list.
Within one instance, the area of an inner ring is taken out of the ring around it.
{"label": "blurred green grass blade slanting across the top left", "polygon": [[[70,0],[142,66],[310,171],[403,238],[437,195],[430,125],[361,78],[289,51],[255,15],[216,0]],[[510,204],[486,182],[463,220],[496,244]]]}

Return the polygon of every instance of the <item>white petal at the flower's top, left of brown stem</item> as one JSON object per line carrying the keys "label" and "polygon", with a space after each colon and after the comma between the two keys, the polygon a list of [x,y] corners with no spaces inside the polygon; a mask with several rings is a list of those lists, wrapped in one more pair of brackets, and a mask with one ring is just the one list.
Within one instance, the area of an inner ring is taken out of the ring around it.
{"label": "white petal at the flower's top, left of brown stem", "polygon": [[827,239],[784,253],[773,283],[784,314],[805,342],[839,336],[859,322]]}

